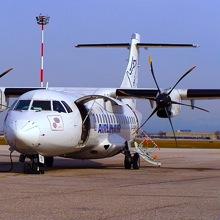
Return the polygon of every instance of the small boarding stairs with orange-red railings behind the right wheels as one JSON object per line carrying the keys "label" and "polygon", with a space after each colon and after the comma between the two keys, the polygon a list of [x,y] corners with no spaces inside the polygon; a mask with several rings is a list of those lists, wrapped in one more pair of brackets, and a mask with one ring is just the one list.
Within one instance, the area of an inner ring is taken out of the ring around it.
{"label": "small boarding stairs with orange-red railings behind the right wheels", "polygon": [[161,166],[161,162],[158,161],[157,153],[160,148],[157,144],[146,134],[146,132],[142,131],[141,134],[143,138],[141,141],[134,141],[135,151],[148,163],[154,166]]}

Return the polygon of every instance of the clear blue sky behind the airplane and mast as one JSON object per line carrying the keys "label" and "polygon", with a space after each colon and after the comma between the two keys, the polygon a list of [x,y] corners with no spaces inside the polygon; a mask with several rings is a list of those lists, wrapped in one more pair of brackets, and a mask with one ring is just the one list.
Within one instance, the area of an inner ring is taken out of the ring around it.
{"label": "clear blue sky behind the airplane and mast", "polygon": [[[220,1],[199,0],[7,0],[1,3],[1,66],[13,67],[0,86],[39,86],[40,27],[35,17],[50,16],[45,31],[45,79],[49,86],[118,87],[127,64],[127,49],[78,49],[78,43],[195,43],[196,49],[141,50],[139,86],[155,87],[147,63],[153,57],[161,88],[171,87],[190,67],[197,68],[178,88],[220,89]],[[220,100],[197,101],[210,113],[183,108],[175,129],[220,130]],[[148,101],[138,103],[143,118]],[[151,131],[170,130],[166,119],[153,117]]]}

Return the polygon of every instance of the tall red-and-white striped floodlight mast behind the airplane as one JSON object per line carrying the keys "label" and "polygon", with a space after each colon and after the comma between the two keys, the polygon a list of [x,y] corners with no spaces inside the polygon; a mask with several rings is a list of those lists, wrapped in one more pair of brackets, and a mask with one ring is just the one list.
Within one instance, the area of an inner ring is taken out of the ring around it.
{"label": "tall red-and-white striped floodlight mast behind the airplane", "polygon": [[41,69],[40,69],[40,86],[44,87],[44,26],[49,23],[50,17],[39,15],[36,17],[37,24],[41,26]]}

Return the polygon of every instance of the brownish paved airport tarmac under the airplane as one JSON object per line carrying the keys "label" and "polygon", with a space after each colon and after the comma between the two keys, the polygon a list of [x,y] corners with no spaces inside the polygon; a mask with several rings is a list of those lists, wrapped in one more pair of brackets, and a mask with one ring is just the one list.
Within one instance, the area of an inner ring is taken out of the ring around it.
{"label": "brownish paved airport tarmac under the airplane", "polygon": [[[162,167],[142,161],[125,170],[123,155],[55,159],[44,175],[0,173],[0,219],[220,219],[220,150],[161,149]],[[0,171],[8,168],[0,146]]]}

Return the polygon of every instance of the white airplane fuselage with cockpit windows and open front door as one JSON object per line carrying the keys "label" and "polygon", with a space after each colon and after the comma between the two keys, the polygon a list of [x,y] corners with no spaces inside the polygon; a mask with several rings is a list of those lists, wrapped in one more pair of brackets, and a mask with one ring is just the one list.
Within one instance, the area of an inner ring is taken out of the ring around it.
{"label": "white airplane fuselage with cockpit windows and open front door", "polygon": [[22,95],[4,122],[8,144],[22,154],[83,159],[120,153],[137,128],[137,112],[119,100],[76,102],[48,90]]}

